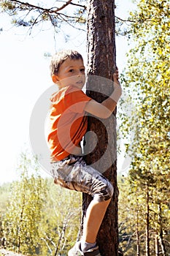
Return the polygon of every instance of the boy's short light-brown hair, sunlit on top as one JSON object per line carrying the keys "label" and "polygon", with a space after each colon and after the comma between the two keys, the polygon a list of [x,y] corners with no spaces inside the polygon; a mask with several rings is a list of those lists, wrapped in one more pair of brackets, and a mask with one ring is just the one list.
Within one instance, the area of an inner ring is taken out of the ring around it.
{"label": "boy's short light-brown hair, sunlit on top", "polygon": [[76,50],[61,50],[60,52],[55,53],[50,63],[51,75],[58,75],[58,70],[61,64],[63,63],[63,61],[66,61],[66,59],[68,58],[76,60],[76,59],[82,59],[82,56]]}

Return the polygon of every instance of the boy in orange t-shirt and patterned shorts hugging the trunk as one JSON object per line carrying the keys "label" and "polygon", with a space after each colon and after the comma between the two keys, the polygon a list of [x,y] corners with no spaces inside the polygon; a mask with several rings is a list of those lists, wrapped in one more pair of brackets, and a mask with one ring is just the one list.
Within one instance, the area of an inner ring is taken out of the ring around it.
{"label": "boy in orange t-shirt and patterned shorts hugging the trunk", "polygon": [[58,91],[51,98],[51,130],[48,135],[54,182],[93,197],[86,212],[82,239],[69,250],[68,255],[101,256],[96,236],[111,200],[113,187],[101,173],[86,165],[82,159],[80,142],[87,129],[85,112],[98,118],[108,118],[115,110],[121,96],[118,72],[113,75],[114,91],[110,97],[98,103],[82,92],[85,67],[80,53],[73,50],[56,53],[50,71],[53,82],[58,85]]}

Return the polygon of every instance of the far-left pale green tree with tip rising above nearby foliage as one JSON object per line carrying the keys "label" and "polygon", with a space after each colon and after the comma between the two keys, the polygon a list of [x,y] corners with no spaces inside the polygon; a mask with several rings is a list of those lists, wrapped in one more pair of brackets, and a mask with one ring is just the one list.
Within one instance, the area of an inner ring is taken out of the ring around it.
{"label": "far-left pale green tree with tip rising above nearby foliage", "polygon": [[[39,222],[45,202],[45,181],[39,176],[37,160],[20,157],[20,181],[12,184],[3,230],[7,247],[17,252],[39,251]],[[32,172],[34,170],[34,174]]]}

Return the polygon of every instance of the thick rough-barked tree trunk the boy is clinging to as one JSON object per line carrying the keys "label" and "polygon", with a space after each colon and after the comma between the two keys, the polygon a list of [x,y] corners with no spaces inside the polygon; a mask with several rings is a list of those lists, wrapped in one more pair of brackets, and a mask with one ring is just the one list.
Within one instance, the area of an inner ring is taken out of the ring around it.
{"label": "thick rough-barked tree trunk the boy is clinging to", "polygon": [[[112,93],[110,80],[115,70],[115,1],[88,0],[88,84],[87,94],[102,102]],[[93,76],[94,75],[94,76]],[[96,77],[98,76],[98,77]],[[103,78],[101,78],[103,77]],[[105,94],[105,95],[104,95]],[[116,111],[115,111],[116,112]],[[89,165],[111,181],[114,195],[98,232],[97,243],[102,256],[117,256],[117,167],[116,167],[116,118],[115,114],[108,119],[88,118],[88,130],[97,136],[85,139],[85,148],[92,150],[86,156]],[[83,217],[91,198],[83,195]]]}

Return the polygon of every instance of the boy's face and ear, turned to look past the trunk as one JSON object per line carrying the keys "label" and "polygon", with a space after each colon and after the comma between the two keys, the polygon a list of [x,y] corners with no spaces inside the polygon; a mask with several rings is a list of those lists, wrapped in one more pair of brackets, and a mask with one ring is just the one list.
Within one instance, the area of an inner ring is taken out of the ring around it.
{"label": "boy's face and ear, turned to look past the trunk", "polygon": [[53,75],[52,79],[59,87],[75,86],[82,89],[85,84],[85,66],[82,59],[66,59],[59,67],[58,75]]}

